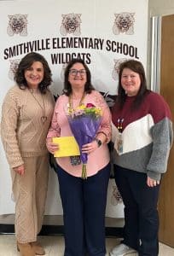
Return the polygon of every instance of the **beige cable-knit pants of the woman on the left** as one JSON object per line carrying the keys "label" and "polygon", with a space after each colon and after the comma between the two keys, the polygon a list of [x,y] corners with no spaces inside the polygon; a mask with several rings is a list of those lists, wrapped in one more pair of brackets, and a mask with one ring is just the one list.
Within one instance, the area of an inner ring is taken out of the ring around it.
{"label": "beige cable-knit pants of the woman on the left", "polygon": [[15,235],[20,243],[37,241],[42,228],[48,188],[48,155],[23,158],[25,174],[12,172]]}

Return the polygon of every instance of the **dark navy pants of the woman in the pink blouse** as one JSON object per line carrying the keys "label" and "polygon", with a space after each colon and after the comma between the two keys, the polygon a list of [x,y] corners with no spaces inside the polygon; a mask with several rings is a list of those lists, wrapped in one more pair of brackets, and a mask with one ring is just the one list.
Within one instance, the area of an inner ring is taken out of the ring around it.
{"label": "dark navy pants of the woman in the pink blouse", "polygon": [[65,229],[64,256],[105,255],[109,174],[110,165],[107,165],[84,180],[57,167]]}

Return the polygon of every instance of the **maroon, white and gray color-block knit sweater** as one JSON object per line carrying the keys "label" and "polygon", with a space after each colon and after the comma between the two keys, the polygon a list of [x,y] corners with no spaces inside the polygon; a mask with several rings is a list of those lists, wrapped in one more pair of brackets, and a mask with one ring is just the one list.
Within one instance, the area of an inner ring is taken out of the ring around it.
{"label": "maroon, white and gray color-block knit sweater", "polygon": [[121,110],[117,104],[113,106],[114,148],[117,148],[120,120],[123,126],[123,152],[114,150],[113,163],[159,180],[161,173],[166,172],[173,140],[171,111],[164,98],[153,91],[145,96],[139,108],[132,109],[134,100],[134,96],[127,96]]}

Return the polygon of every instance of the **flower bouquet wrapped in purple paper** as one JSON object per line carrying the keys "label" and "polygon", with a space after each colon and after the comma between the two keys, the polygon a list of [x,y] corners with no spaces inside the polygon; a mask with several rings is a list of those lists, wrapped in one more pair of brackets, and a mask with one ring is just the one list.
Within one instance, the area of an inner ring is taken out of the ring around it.
{"label": "flower bouquet wrapped in purple paper", "polygon": [[101,108],[97,108],[92,103],[86,105],[82,103],[76,109],[70,107],[67,109],[67,119],[80,149],[80,160],[83,163],[82,178],[87,178],[86,164],[88,161],[88,155],[82,153],[82,146],[90,143],[96,137],[101,118]]}

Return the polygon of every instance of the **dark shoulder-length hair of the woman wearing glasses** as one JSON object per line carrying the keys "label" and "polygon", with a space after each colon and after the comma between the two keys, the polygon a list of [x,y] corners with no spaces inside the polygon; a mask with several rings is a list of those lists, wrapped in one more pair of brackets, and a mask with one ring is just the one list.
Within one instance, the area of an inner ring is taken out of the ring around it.
{"label": "dark shoulder-length hair of the woman wearing glasses", "polygon": [[69,76],[69,71],[70,71],[71,67],[73,67],[73,65],[75,63],[81,63],[84,66],[84,69],[86,71],[86,80],[87,81],[86,81],[86,84],[84,85],[84,91],[86,93],[90,93],[92,90],[94,90],[94,87],[91,84],[90,69],[87,67],[87,65],[85,64],[85,62],[82,59],[73,59],[72,61],[69,61],[69,63],[67,64],[65,74],[64,74],[63,93],[67,96],[70,96],[70,94],[72,93],[72,85],[68,81],[68,76]]}

